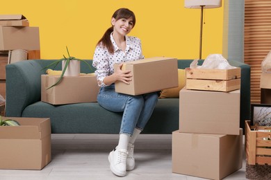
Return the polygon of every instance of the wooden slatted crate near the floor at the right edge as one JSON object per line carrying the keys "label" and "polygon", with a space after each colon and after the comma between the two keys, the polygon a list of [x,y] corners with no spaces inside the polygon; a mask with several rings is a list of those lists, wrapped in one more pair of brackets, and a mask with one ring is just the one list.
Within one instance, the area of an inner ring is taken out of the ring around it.
{"label": "wooden slatted crate near the floor at the right edge", "polygon": [[[250,121],[245,121],[245,152],[249,165],[271,165],[271,132],[254,130]],[[261,127],[270,130],[271,127]]]}

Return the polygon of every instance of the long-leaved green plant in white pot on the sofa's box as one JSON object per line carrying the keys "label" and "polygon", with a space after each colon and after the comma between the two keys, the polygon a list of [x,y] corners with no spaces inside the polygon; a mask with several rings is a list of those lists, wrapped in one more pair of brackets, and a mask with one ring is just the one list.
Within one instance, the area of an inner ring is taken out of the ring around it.
{"label": "long-leaved green plant in white pot on the sofa's box", "polygon": [[[69,55],[69,50],[68,50],[67,46],[66,46],[66,49],[67,49],[67,54]],[[69,57],[65,57],[65,55],[63,55],[63,58],[61,58],[60,60],[56,60],[56,62],[53,62],[53,63],[49,64],[48,66],[45,66],[43,69],[48,69],[51,66],[53,66],[53,69],[55,69],[56,66],[60,62],[62,62],[62,73],[61,73],[58,81],[55,84],[51,85],[51,87],[54,87],[57,84],[59,84],[61,82],[63,76],[77,76],[77,75],[79,75],[80,74],[80,62],[84,62],[85,64],[88,65],[90,70],[92,70],[92,67],[90,66],[90,64],[88,64],[88,62],[86,62],[85,60],[78,59],[76,57],[72,57],[70,55],[69,55]],[[50,89],[51,87],[49,87],[47,89]]]}

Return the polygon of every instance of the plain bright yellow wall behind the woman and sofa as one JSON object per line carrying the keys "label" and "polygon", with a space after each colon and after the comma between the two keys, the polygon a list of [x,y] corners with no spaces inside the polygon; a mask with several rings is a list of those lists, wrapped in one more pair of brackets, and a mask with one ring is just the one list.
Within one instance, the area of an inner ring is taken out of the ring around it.
{"label": "plain bright yellow wall behind the woman and sofa", "polygon": [[[129,8],[137,22],[130,35],[142,40],[145,57],[199,57],[199,9],[183,7],[184,0],[13,0],[1,1],[1,14],[23,14],[40,27],[42,59],[69,53],[92,59],[95,45],[110,26],[118,8]],[[202,58],[222,53],[223,8],[205,10]]]}

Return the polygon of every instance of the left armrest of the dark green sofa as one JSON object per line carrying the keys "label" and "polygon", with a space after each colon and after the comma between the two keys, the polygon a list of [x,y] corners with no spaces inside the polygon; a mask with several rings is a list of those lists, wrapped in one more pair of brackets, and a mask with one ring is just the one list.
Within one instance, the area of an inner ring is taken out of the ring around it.
{"label": "left armrest of the dark green sofa", "polygon": [[6,66],[6,116],[19,117],[28,105],[40,101],[40,76],[44,73],[37,60]]}

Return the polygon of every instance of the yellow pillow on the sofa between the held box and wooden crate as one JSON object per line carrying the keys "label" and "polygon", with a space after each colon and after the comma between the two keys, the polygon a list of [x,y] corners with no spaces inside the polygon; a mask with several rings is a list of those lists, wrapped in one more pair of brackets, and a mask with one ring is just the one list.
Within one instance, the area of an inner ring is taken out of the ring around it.
{"label": "yellow pillow on the sofa between the held box and wooden crate", "polygon": [[179,86],[170,88],[170,89],[163,89],[161,91],[159,98],[179,98],[179,92],[186,85],[186,70],[185,69],[178,69],[178,78],[179,78]]}

